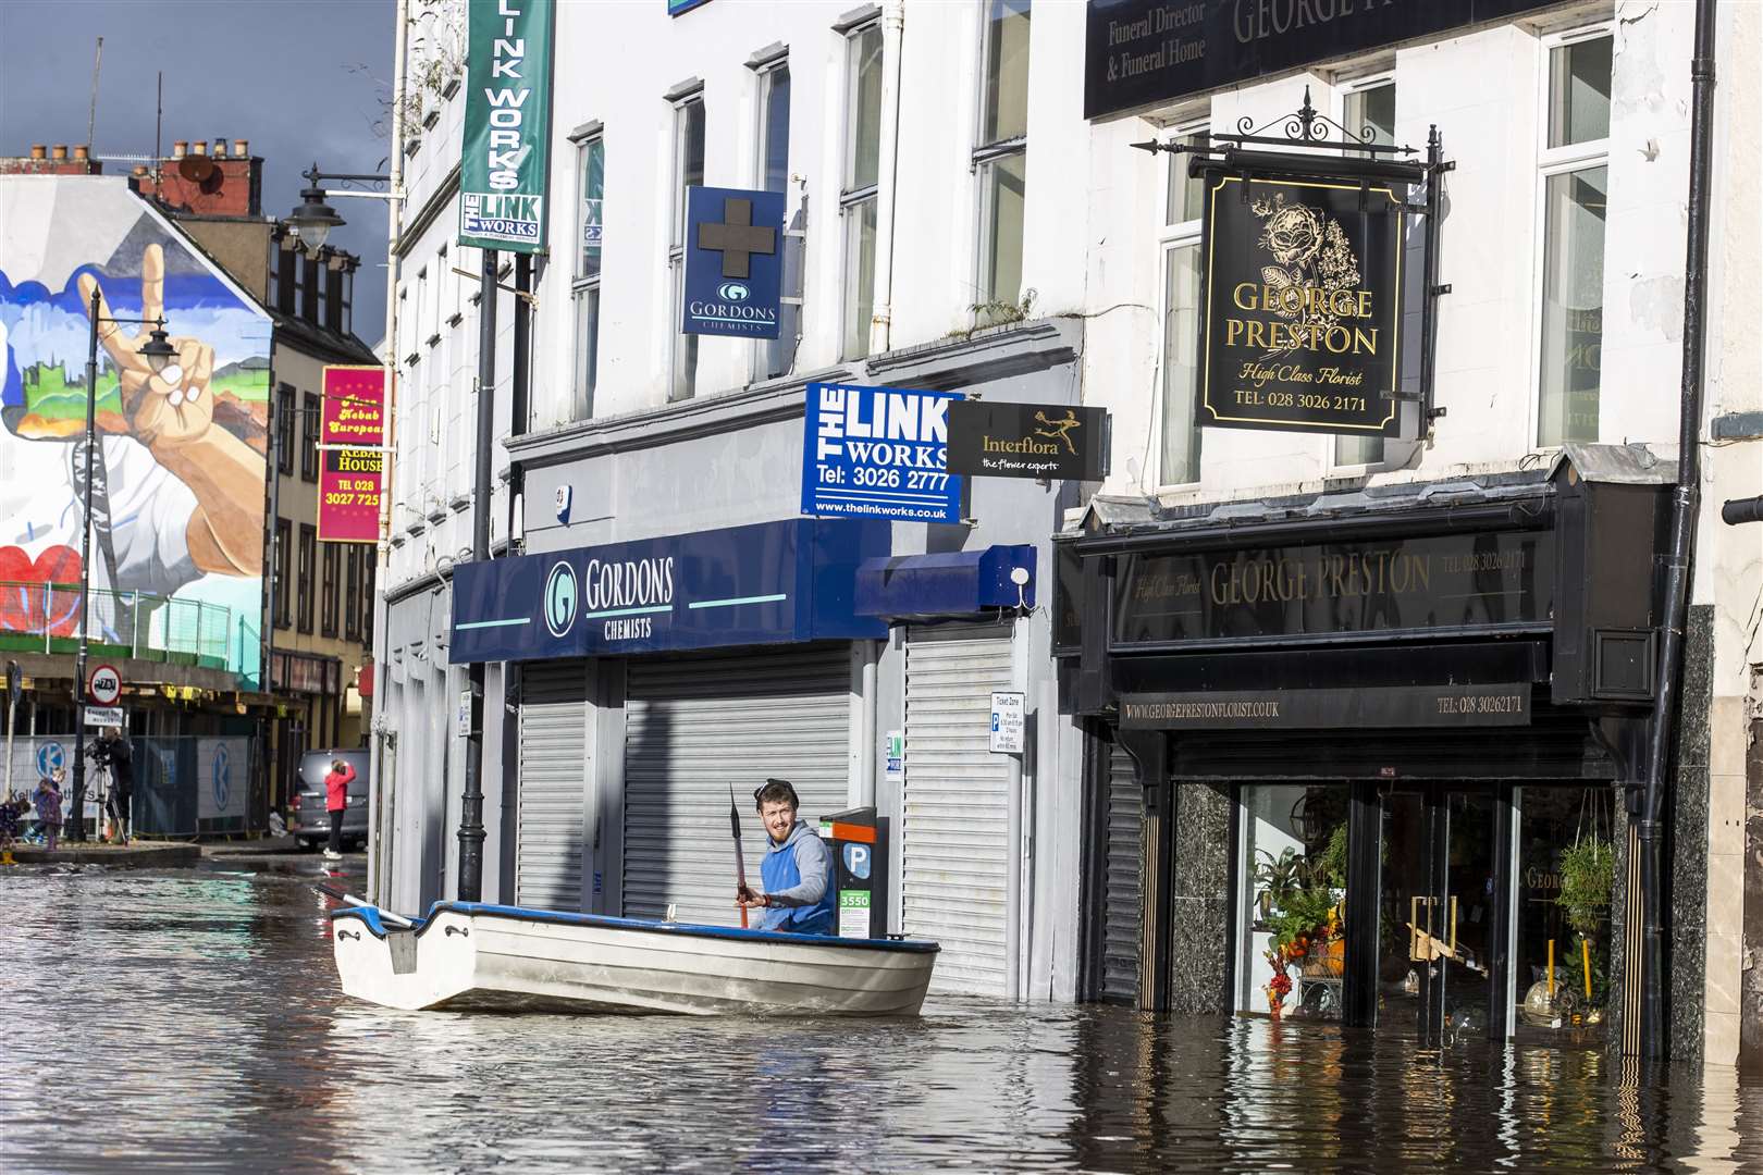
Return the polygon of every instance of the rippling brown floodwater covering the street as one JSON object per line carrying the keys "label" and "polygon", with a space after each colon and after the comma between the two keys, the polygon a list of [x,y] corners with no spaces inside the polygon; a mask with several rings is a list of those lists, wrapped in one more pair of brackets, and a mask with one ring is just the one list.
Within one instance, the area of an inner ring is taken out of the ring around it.
{"label": "rippling brown floodwater covering the street", "polygon": [[1763,1087],[1728,1069],[936,997],[393,1013],[342,995],[296,877],[19,867],[0,904],[9,1173],[1763,1171]]}

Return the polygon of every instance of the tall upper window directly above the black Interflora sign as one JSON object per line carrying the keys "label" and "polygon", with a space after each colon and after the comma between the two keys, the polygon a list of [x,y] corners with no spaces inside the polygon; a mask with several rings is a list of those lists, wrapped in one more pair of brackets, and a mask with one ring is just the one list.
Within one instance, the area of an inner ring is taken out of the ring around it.
{"label": "tall upper window directly above the black Interflora sign", "polygon": [[973,171],[980,183],[975,301],[1015,305],[1023,294],[1023,206],[1028,185],[1028,0],[986,4],[986,92]]}

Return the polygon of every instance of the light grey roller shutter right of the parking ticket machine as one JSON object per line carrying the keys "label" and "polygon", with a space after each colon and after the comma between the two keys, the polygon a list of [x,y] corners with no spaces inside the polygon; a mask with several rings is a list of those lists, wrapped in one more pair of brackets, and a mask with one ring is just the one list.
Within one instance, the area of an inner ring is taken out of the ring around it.
{"label": "light grey roller shutter right of the parking ticket machine", "polygon": [[901,925],[936,939],[933,992],[1007,994],[1010,757],[991,754],[991,694],[1010,689],[1010,636],[913,629],[906,639]]}

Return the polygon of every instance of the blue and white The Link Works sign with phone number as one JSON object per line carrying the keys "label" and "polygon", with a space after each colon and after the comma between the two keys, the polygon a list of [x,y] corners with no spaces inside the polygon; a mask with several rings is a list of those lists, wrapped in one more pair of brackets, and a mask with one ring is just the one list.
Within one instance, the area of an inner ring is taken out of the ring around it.
{"label": "blue and white The Link Works sign with phone number", "polygon": [[961,521],[948,472],[948,403],[959,391],[809,384],[802,513]]}

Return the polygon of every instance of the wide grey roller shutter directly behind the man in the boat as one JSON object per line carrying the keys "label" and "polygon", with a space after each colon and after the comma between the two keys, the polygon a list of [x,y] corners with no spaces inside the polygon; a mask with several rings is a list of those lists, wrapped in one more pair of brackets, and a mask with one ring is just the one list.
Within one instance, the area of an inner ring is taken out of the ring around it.
{"label": "wide grey roller shutter directly behind the man in the boat", "polygon": [[799,816],[850,807],[848,645],[631,661],[624,684],[624,914],[739,925],[728,789],[740,809],[748,877],[760,884],[765,830],[753,789],[795,784]]}

